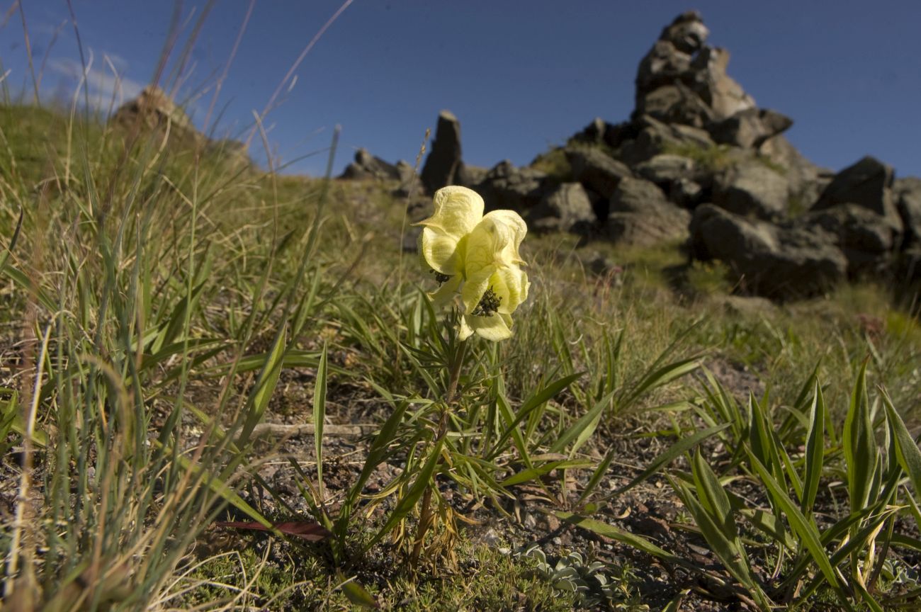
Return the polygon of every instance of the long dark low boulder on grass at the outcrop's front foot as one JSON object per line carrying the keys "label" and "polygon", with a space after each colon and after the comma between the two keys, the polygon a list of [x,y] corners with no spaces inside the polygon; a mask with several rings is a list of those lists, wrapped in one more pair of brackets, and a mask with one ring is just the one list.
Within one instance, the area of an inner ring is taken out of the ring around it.
{"label": "long dark low boulder on grass at the outcrop's front foot", "polygon": [[721,260],[744,290],[789,299],[822,294],[846,278],[847,260],[821,227],[774,225],[703,204],[691,219],[698,260]]}

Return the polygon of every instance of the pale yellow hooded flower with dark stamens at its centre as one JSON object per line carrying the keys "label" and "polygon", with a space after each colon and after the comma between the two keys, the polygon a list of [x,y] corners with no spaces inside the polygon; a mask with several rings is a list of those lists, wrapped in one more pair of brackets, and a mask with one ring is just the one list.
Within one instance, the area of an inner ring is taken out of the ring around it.
{"label": "pale yellow hooded flower with dark stamens at its centre", "polygon": [[528,298],[528,275],[519,247],[528,225],[514,211],[483,214],[484,202],[466,187],[436,192],[435,212],[420,221],[419,254],[436,272],[437,305],[461,292],[461,340],[476,333],[488,340],[511,336],[511,314]]}

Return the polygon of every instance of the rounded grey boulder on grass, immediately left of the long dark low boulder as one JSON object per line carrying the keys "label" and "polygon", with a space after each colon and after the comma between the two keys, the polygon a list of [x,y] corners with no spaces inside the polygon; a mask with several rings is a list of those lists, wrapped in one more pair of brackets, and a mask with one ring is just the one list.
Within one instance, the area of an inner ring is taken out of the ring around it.
{"label": "rounded grey boulder on grass, immediately left of the long dark low boulder", "polygon": [[652,246],[687,237],[691,214],[644,179],[624,178],[608,204],[604,234],[618,244]]}

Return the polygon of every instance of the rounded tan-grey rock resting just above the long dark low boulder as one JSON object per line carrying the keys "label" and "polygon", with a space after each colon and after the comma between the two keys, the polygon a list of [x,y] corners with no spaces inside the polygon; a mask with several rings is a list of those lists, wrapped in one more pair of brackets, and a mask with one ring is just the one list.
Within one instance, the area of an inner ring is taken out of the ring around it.
{"label": "rounded tan-grey rock resting just above the long dark low boulder", "polygon": [[757,160],[729,167],[713,184],[713,203],[730,213],[778,219],[787,212],[787,179]]}

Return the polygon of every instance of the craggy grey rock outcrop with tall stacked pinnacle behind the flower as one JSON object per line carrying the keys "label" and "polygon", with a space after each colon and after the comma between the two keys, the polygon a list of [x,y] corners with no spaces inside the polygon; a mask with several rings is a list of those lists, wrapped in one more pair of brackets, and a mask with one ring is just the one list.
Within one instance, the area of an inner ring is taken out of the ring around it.
{"label": "craggy grey rock outcrop with tall stacked pinnacle behind the flower", "polygon": [[630,119],[596,119],[529,167],[464,164],[460,121],[442,111],[421,177],[361,150],[342,178],[397,180],[402,195],[469,186],[533,230],[587,241],[682,241],[727,264],[740,291],[775,299],[918,280],[921,179],[873,157],[837,174],[811,163],[783,135],[793,121],[757,106],[708,35],[698,13],[676,17],[639,64]]}

